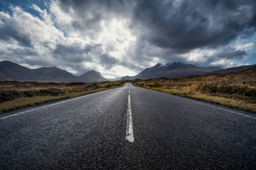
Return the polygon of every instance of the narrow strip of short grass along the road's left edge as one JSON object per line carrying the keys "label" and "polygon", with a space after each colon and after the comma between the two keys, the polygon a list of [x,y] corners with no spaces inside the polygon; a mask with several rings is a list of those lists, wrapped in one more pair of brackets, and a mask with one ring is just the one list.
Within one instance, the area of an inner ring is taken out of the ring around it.
{"label": "narrow strip of short grass along the road's left edge", "polygon": [[83,92],[67,92],[64,94],[57,95],[57,96],[45,95],[45,96],[15,98],[14,100],[0,103],[0,114],[3,114],[5,112],[10,112],[10,111],[15,111],[15,110],[25,108],[25,107],[40,105],[40,104],[47,103],[47,102],[53,102],[53,101],[67,99],[67,98],[87,95],[87,94],[94,93],[94,92],[100,92],[103,90],[123,87],[124,85],[125,85],[125,83],[123,83],[119,86],[108,87],[108,88],[100,87],[100,88],[97,88],[94,90],[88,90],[88,91],[83,91]]}

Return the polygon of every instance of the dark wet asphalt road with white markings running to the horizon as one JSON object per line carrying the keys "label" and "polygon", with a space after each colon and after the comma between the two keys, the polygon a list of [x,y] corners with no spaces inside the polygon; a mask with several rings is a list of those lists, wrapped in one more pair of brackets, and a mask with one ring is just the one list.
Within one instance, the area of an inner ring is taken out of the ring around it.
{"label": "dark wet asphalt road with white markings running to the horizon", "polygon": [[0,115],[0,169],[256,169],[256,115],[123,87]]}

